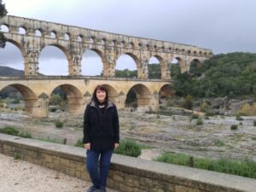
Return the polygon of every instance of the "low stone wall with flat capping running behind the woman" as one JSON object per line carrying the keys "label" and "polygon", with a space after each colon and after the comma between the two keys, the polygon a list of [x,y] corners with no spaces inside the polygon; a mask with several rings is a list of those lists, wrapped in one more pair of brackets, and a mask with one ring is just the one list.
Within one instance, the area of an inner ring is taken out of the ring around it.
{"label": "low stone wall with flat capping running behind the woman", "polygon": [[[84,148],[0,134],[0,153],[90,181]],[[256,192],[256,180],[113,154],[108,187],[124,192]]]}

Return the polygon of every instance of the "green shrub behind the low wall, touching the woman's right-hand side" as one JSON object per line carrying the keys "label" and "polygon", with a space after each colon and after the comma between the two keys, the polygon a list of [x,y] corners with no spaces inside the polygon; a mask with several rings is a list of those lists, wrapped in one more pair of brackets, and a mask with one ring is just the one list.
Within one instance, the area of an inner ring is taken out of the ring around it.
{"label": "green shrub behind the low wall, touching the woman's right-hand side", "polygon": [[126,156],[138,157],[142,154],[142,146],[132,140],[122,140],[119,148],[114,150],[115,154],[124,154]]}

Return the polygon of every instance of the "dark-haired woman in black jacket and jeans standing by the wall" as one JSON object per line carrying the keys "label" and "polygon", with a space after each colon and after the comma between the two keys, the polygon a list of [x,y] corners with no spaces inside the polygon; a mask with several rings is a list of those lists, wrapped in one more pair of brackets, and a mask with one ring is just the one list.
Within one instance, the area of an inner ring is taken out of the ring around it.
{"label": "dark-haired woman in black jacket and jeans standing by the wall", "polygon": [[106,192],[110,159],[113,149],[119,147],[119,117],[116,106],[108,101],[108,90],[102,85],[96,86],[84,112],[83,143],[87,150],[86,168],[93,183],[87,192]]}

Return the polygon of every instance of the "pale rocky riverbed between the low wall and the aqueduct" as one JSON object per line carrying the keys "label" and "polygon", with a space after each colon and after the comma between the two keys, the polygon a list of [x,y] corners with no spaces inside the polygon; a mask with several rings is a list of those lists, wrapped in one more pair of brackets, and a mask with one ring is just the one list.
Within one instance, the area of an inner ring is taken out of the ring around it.
{"label": "pale rocky riverbed between the low wall and the aqueduct", "polygon": [[[120,137],[130,138],[150,147],[152,157],[163,152],[183,153],[193,156],[256,161],[256,117],[234,116],[201,117],[202,125],[189,115],[161,115],[155,113],[119,110]],[[61,120],[63,128],[55,128]],[[32,137],[73,145],[83,137],[83,115],[49,113],[48,119],[33,119],[24,112],[1,112],[0,128],[13,125],[20,131],[30,131]],[[237,125],[236,131],[230,126]],[[148,153],[148,150],[147,150]],[[148,158],[148,157],[145,157]]]}

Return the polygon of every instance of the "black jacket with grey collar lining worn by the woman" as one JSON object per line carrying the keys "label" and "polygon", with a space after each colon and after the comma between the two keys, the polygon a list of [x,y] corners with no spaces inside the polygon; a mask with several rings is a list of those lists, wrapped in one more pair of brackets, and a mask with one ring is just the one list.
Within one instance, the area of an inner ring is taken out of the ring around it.
{"label": "black jacket with grey collar lining worn by the woman", "polygon": [[116,106],[107,102],[101,115],[97,102],[90,102],[84,112],[83,143],[90,143],[90,149],[107,151],[119,143],[119,117]]}

